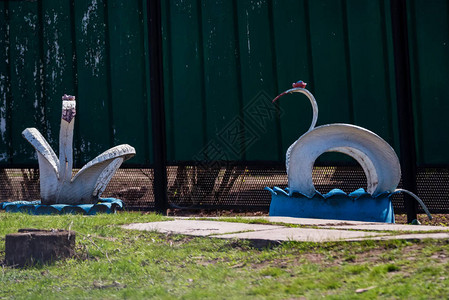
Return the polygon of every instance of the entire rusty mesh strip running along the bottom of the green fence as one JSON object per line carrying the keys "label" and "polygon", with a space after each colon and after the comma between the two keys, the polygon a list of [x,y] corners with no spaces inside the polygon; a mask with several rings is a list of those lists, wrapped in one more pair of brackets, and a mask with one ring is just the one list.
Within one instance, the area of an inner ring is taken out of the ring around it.
{"label": "entire rusty mesh strip running along the bottom of the green fence", "polygon": [[[333,188],[348,193],[366,187],[360,166],[315,166],[312,177],[321,193]],[[152,169],[119,169],[102,197],[122,199],[127,209],[151,210],[155,201],[153,178]],[[173,207],[267,211],[271,195],[264,187],[285,188],[287,176],[283,165],[208,168],[182,165],[167,167],[167,183]],[[449,169],[418,169],[417,189],[432,213],[449,213]],[[38,169],[0,169],[0,202],[36,199],[39,199]],[[402,195],[393,196],[392,201],[396,213],[406,212]],[[418,212],[423,213],[420,207]]]}

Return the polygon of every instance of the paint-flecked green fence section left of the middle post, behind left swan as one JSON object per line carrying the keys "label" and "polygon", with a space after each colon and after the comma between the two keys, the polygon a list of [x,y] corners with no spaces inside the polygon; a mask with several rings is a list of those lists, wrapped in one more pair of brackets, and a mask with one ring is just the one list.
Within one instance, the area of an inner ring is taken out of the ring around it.
{"label": "paint-flecked green fence section left of the middle post, behind left swan", "polygon": [[77,97],[75,162],[118,143],[151,162],[146,1],[0,2],[0,163],[36,163],[36,127],[57,151],[61,96]]}

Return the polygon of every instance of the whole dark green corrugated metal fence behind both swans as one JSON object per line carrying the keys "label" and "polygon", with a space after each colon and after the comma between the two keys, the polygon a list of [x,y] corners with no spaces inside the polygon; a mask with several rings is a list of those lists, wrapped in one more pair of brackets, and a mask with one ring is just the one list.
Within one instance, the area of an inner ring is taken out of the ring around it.
{"label": "whole dark green corrugated metal fence behind both swans", "polygon": [[[167,155],[283,161],[308,128],[304,97],[270,100],[302,79],[318,124],[352,123],[397,151],[387,0],[161,0]],[[449,165],[448,1],[407,1],[418,165]],[[76,161],[128,143],[152,161],[146,1],[0,2],[0,163],[35,163],[21,137],[56,147],[60,97],[75,94]]]}

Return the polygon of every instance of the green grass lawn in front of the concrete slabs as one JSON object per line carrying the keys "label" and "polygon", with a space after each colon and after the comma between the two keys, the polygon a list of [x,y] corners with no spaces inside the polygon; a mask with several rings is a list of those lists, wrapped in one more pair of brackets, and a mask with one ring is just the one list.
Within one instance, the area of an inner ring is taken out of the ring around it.
{"label": "green grass lawn in front of the concrete slabs", "polygon": [[449,295],[447,241],[287,242],[166,235],[118,225],[167,218],[120,213],[0,213],[4,236],[19,228],[71,229],[76,257],[26,269],[3,266],[0,298],[14,299],[441,299]]}

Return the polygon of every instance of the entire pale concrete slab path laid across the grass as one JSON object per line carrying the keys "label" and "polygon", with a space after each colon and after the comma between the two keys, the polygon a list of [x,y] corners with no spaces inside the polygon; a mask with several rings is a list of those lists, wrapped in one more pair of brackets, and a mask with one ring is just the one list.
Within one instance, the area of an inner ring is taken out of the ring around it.
{"label": "entire pale concrete slab path laid across the grass", "polygon": [[[254,218],[250,217],[250,219]],[[174,221],[164,222],[134,223],[122,227],[126,229],[158,231],[161,233],[208,236],[223,239],[246,239],[255,247],[260,248],[279,244],[283,241],[327,242],[392,239],[449,239],[449,229],[443,226],[400,225],[288,217],[264,217],[264,219],[270,222],[316,226],[318,228],[291,228],[282,225],[232,223],[218,220],[192,220],[191,218],[176,218]],[[424,233],[426,231],[438,230],[445,232]],[[376,231],[398,231],[398,234],[391,235]],[[401,234],[401,231],[414,231],[414,233]]]}

